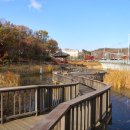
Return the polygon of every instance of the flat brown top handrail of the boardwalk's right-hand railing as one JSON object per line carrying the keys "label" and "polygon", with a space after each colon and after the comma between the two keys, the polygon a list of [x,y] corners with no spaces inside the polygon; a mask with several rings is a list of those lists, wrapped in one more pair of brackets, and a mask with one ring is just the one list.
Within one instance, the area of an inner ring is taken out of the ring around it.
{"label": "flat brown top handrail of the boardwalk's right-hand railing", "polygon": [[[110,88],[107,87],[109,90]],[[50,112],[46,117],[36,124],[31,130],[51,130],[54,128],[55,124],[64,116],[66,113],[73,108],[74,106],[83,103],[84,101],[89,101],[93,99],[95,96],[99,96],[100,94],[103,94],[106,91],[106,88],[104,90],[99,90],[98,93],[96,91],[88,93],[86,95],[77,97],[73,100],[61,103],[58,105],[52,112]]]}

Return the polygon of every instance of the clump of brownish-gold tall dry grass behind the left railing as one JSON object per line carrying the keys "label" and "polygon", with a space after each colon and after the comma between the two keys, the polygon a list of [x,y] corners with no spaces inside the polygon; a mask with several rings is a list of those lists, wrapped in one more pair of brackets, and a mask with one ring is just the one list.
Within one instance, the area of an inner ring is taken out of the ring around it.
{"label": "clump of brownish-gold tall dry grass behind the left railing", "polygon": [[19,85],[20,77],[12,72],[0,74],[0,87],[12,87]]}

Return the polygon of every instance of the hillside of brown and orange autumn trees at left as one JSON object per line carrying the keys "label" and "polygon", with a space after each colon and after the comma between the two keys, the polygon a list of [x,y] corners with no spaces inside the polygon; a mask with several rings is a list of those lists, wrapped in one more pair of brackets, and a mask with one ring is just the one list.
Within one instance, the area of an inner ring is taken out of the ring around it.
{"label": "hillside of brown and orange autumn trees at left", "polygon": [[0,20],[0,63],[47,60],[58,50],[58,42],[46,30],[33,31],[24,25]]}

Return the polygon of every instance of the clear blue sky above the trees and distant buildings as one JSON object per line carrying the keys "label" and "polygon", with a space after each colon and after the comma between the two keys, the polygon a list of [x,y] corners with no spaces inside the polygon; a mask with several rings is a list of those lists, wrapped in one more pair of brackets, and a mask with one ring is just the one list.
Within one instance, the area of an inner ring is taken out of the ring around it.
{"label": "clear blue sky above the trees and distant buildings", "polygon": [[0,18],[47,30],[61,48],[127,47],[130,0],[0,0]]}

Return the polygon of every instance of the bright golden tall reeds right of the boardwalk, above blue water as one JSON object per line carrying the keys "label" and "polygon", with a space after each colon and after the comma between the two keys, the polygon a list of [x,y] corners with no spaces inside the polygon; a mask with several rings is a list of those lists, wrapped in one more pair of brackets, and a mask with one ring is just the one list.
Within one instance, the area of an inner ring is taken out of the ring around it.
{"label": "bright golden tall reeds right of the boardwalk, above blue water", "polygon": [[130,88],[130,71],[108,70],[104,77],[104,82],[115,89]]}

